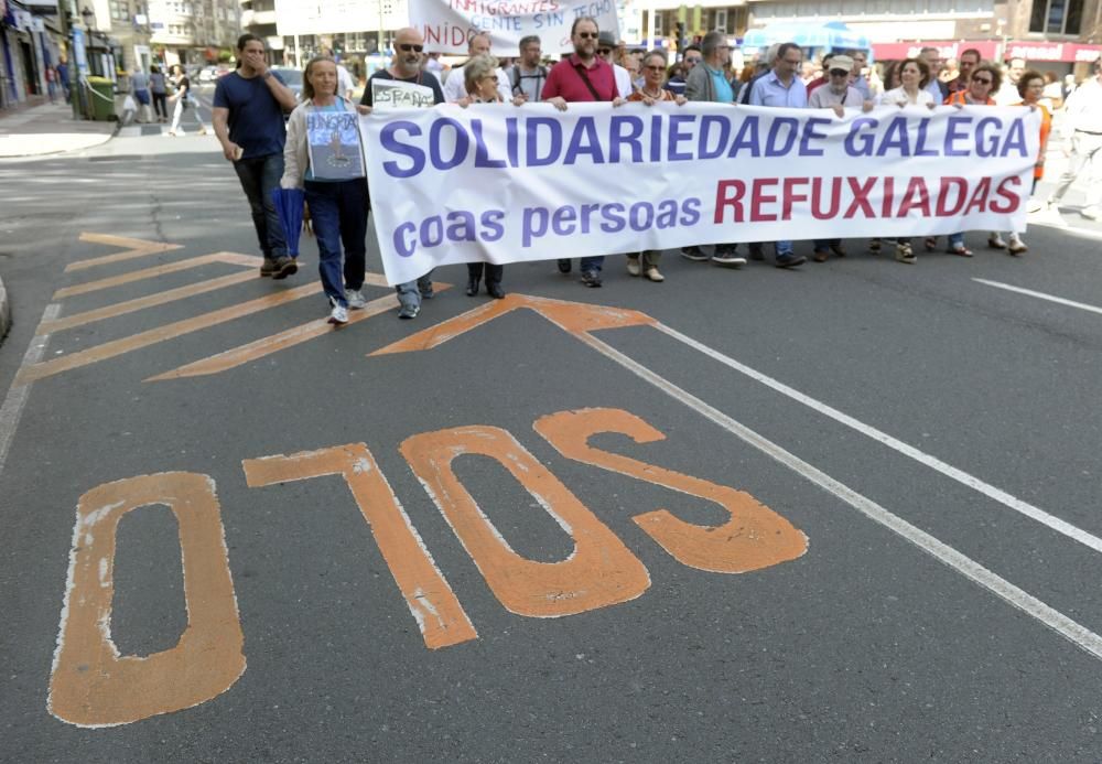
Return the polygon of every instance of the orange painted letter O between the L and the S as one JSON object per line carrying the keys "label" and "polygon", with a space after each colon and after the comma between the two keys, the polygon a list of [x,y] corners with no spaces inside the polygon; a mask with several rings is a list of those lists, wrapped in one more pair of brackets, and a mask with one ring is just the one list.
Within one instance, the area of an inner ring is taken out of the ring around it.
{"label": "orange painted letter O between the L and the S", "polygon": [[[402,455],[501,604],[518,615],[558,617],[627,602],[647,591],[642,562],[507,431],[461,427],[425,432]],[[509,548],[455,476],[462,454],[497,460],[574,540],[561,562],[533,562]]]}

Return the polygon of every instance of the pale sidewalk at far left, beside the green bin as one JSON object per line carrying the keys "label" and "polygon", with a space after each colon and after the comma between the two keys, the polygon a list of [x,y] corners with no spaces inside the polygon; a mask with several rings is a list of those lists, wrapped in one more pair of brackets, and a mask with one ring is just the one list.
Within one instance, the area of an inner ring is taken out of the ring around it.
{"label": "pale sidewalk at far left, beside the green bin", "polygon": [[41,157],[90,149],[115,134],[117,122],[74,120],[73,107],[39,104],[0,111],[0,158]]}

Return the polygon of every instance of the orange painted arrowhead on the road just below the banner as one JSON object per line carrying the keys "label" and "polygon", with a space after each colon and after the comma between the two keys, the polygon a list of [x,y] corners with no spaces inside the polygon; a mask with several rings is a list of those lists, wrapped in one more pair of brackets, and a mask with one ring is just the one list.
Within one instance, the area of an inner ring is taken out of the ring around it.
{"label": "orange painted arrowhead on the road just below the banner", "polygon": [[505,315],[520,308],[536,311],[551,323],[571,334],[586,334],[602,329],[618,329],[622,326],[650,326],[657,323],[646,313],[622,308],[588,305],[580,302],[568,302],[565,300],[529,297],[527,294],[507,294],[504,300],[495,300],[494,302],[486,303],[454,319],[411,334],[404,340],[387,345],[368,355],[428,351],[473,329],[477,329],[499,315]]}

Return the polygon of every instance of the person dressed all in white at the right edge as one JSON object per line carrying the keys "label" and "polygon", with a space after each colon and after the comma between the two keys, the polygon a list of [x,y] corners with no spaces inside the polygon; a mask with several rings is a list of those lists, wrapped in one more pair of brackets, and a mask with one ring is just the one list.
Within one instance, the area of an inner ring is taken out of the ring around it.
{"label": "person dressed all in white at the right edge", "polygon": [[1060,138],[1068,166],[1056,182],[1048,205],[1058,206],[1071,184],[1087,170],[1087,204],[1079,214],[1096,220],[1102,216],[1102,57],[1094,61],[1094,76],[1084,79],[1068,96]]}

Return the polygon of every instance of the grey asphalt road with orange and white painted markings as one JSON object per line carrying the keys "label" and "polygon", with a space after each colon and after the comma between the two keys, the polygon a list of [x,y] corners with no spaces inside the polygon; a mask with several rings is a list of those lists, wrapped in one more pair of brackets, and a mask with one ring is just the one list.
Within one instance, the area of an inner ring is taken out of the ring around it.
{"label": "grey asphalt road with orange and white painted markings", "polygon": [[1022,258],[451,267],[334,332],[210,138],[0,187],[0,758],[1102,758],[1074,194]]}

